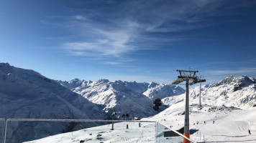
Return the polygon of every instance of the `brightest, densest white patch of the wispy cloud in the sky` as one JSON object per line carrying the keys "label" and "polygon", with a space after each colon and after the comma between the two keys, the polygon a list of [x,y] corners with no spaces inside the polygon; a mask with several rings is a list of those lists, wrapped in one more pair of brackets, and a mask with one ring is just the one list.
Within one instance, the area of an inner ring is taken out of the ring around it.
{"label": "brightest, densest white patch of the wispy cloud in the sky", "polygon": [[94,41],[70,42],[63,44],[65,49],[73,54],[83,53],[91,56],[115,56],[119,57],[127,52],[134,51],[135,47],[129,45],[131,35],[127,31],[104,31],[96,29],[101,37]]}

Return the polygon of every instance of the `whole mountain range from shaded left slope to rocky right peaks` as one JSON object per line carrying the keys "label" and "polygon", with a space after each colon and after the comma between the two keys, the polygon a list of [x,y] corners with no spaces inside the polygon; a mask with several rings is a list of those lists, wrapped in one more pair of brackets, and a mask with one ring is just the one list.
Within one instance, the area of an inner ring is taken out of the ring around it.
{"label": "whole mountain range from shaded left slope to rocky right peaks", "polygon": [[[199,91],[199,87],[189,90],[193,107],[198,104]],[[95,82],[80,79],[55,81],[37,71],[0,63],[0,118],[4,119],[111,119],[112,112],[116,112],[115,119],[122,119],[122,114],[129,114],[127,119],[156,114],[163,118],[163,114],[182,114],[185,92],[181,87],[155,82],[110,82],[107,79]],[[163,102],[158,112],[152,109],[156,98]],[[206,110],[204,112],[256,107],[256,78],[229,76],[218,83],[203,85],[201,103]],[[9,124],[8,131],[12,134],[7,134],[7,142],[40,139],[68,132],[77,125],[65,122]],[[99,124],[81,125],[93,127]]]}

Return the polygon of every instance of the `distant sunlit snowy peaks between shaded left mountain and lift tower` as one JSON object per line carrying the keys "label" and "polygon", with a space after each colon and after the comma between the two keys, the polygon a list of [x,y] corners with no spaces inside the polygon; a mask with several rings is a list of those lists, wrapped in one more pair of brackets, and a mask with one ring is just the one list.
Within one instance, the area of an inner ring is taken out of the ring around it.
{"label": "distant sunlit snowy peaks between shaded left mountain and lift tower", "polygon": [[[117,118],[122,114],[130,114],[132,117],[150,117],[155,112],[152,107],[152,100],[157,98],[171,97],[182,94],[184,89],[177,86],[137,82],[109,82],[107,79],[100,79],[96,82],[73,79],[69,82],[58,81],[64,87],[81,94],[83,97],[95,104],[102,104],[106,107],[105,112],[117,112]],[[163,111],[167,106],[163,106]]]}

